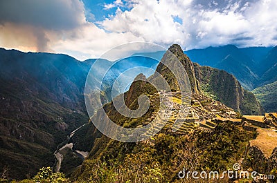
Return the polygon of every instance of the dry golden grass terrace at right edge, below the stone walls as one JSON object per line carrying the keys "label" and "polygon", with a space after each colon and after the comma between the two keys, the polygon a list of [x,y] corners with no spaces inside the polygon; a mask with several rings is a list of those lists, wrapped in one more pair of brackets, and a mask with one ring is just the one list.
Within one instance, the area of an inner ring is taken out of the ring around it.
{"label": "dry golden grass terrace at right edge, below the stone walls", "polygon": [[265,128],[258,128],[257,132],[259,135],[250,141],[250,146],[257,146],[268,158],[277,146],[277,133],[272,129]]}

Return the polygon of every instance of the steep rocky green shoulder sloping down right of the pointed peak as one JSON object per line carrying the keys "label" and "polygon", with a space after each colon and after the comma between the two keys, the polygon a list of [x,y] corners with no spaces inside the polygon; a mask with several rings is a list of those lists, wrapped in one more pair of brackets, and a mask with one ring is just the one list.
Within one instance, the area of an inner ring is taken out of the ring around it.
{"label": "steep rocky green shoulder sloping down right of the pointed peak", "polygon": [[240,111],[242,114],[260,115],[262,106],[253,93],[244,90],[233,75],[224,70],[195,64],[196,76],[204,94]]}

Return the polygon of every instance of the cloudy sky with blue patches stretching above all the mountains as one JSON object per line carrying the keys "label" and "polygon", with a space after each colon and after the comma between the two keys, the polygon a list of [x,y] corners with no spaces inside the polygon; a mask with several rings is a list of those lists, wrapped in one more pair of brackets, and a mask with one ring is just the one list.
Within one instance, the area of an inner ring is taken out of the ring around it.
{"label": "cloudy sky with blue patches stretching above all the mountains", "polygon": [[276,0],[1,0],[0,47],[96,58],[134,41],[277,45]]}

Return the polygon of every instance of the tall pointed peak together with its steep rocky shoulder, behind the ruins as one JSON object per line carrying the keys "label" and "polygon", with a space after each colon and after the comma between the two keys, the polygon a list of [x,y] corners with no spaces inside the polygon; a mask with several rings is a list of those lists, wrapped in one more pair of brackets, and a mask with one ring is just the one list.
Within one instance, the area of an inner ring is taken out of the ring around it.
{"label": "tall pointed peak together with its steep rocky shoulder, behind the ruins", "polygon": [[[172,45],[168,50],[181,61],[186,69],[193,93],[205,93],[242,114],[259,115],[263,113],[262,106],[256,97],[251,92],[244,90],[233,75],[224,70],[193,64],[179,45]],[[163,59],[170,58],[164,56]],[[233,66],[232,61],[229,63],[230,67]],[[172,76],[170,71],[163,64],[157,66],[157,72],[161,73],[168,83],[175,83],[170,77]]]}

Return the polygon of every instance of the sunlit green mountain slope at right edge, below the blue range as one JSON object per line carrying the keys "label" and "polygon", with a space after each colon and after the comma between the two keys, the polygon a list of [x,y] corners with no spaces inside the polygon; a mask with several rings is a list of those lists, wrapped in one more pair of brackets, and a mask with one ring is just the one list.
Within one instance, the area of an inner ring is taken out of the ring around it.
{"label": "sunlit green mountain slope at right edge, below the blue range", "polygon": [[267,113],[277,110],[277,81],[265,86],[260,86],[252,92],[256,95],[257,99],[259,99]]}

